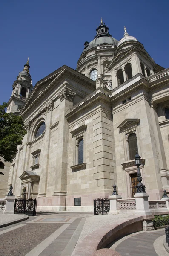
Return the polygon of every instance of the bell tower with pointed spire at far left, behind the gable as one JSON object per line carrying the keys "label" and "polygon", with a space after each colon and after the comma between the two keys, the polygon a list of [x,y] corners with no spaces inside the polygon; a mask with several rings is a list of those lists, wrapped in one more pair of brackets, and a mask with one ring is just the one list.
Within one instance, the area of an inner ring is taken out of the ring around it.
{"label": "bell tower with pointed spire at far left, behind the gable", "polygon": [[32,91],[32,79],[29,74],[29,57],[23,71],[19,72],[17,80],[12,85],[12,95],[8,102],[7,112],[18,114]]}

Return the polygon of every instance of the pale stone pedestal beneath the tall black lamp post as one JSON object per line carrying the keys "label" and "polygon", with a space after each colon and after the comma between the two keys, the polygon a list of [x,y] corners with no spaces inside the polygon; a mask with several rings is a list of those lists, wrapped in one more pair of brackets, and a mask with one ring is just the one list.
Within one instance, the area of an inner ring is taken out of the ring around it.
{"label": "pale stone pedestal beneath the tall black lamp post", "polygon": [[149,195],[147,193],[135,193],[135,215],[152,215],[152,212],[149,209],[148,197]]}

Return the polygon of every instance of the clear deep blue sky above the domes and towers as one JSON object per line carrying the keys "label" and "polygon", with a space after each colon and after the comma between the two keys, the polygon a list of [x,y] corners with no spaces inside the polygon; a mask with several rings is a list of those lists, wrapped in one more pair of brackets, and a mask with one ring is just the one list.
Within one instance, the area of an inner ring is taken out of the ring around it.
{"label": "clear deep blue sky above the domes and towers", "polygon": [[159,65],[169,67],[168,0],[7,0],[0,2],[0,104],[29,56],[32,84],[66,64],[76,68],[100,18],[120,40],[126,26]]}

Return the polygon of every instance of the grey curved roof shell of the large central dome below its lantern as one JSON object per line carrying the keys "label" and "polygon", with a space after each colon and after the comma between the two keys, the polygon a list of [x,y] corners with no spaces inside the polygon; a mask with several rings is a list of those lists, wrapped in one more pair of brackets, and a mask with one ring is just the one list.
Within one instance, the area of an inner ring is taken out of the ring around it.
{"label": "grey curved roof shell of the large central dome below its lantern", "polygon": [[112,44],[117,46],[118,44],[118,40],[113,38],[112,36],[100,36],[95,38],[94,40],[92,40],[88,47],[86,47],[86,49],[84,49],[84,51],[91,49],[92,47],[95,47],[97,45],[100,44]]}

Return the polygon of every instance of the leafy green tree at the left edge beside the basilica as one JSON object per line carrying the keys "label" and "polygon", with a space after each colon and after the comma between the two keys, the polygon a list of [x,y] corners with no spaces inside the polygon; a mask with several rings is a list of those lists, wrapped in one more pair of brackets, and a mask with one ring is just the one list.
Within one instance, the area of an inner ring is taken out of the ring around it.
{"label": "leafy green tree at the left edge beside the basilica", "polygon": [[13,156],[17,153],[17,146],[22,144],[23,137],[27,133],[22,116],[6,113],[6,107],[7,103],[0,105],[0,169],[4,168],[2,158],[12,163]]}

